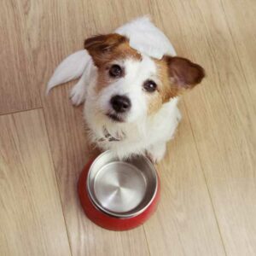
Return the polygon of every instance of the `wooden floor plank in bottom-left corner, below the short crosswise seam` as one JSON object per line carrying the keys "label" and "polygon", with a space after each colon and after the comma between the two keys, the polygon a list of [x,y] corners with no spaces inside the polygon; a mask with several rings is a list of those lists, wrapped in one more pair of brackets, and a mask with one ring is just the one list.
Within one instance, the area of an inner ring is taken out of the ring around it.
{"label": "wooden floor plank in bottom-left corner, below the short crosswise seam", "polygon": [[71,255],[43,110],[0,127],[0,254]]}

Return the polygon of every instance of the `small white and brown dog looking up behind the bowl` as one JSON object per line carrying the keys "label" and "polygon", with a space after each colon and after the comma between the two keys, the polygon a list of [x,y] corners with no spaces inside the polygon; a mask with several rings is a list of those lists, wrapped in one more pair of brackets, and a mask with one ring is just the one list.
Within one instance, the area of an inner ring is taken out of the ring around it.
{"label": "small white and brown dog looking up behind the bowl", "polygon": [[178,97],[201,82],[204,69],[177,57],[166,36],[143,17],[86,39],[83,50],[56,68],[47,92],[78,78],[71,100],[84,102],[91,141],[119,158],[147,154],[157,162],[181,119]]}

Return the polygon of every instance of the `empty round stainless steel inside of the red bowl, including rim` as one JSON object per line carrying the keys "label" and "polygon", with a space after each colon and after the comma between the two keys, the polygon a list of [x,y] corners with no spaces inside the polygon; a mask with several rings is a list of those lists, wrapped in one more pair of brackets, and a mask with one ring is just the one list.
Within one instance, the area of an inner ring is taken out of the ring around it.
{"label": "empty round stainless steel inside of the red bowl, including rim", "polygon": [[106,151],[90,166],[86,188],[90,200],[102,212],[117,218],[131,218],[154,200],[157,174],[144,156],[120,161],[111,151]]}

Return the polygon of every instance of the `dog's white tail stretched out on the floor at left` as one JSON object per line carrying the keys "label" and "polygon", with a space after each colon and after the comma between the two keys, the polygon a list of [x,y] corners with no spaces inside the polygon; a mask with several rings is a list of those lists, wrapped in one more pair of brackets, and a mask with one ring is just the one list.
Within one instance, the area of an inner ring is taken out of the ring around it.
{"label": "dog's white tail stretched out on the floor at left", "polygon": [[67,56],[64,61],[61,61],[61,64],[55,69],[55,73],[49,79],[46,94],[58,84],[78,79],[84,73],[84,69],[90,60],[91,56],[86,49],[79,50]]}

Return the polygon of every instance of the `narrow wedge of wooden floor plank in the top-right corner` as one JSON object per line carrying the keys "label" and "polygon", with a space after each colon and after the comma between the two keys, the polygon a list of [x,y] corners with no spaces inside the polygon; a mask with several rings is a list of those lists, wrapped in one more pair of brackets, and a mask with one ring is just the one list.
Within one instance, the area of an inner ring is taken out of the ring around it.
{"label": "narrow wedge of wooden floor plank in the top-right corner", "polygon": [[253,100],[256,113],[256,4],[252,0],[221,1],[240,68],[244,73],[245,87]]}

